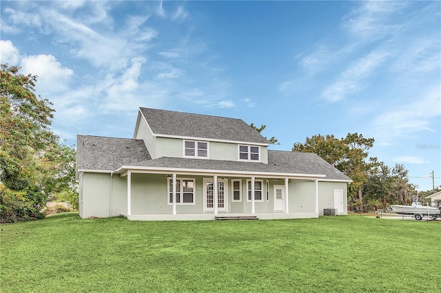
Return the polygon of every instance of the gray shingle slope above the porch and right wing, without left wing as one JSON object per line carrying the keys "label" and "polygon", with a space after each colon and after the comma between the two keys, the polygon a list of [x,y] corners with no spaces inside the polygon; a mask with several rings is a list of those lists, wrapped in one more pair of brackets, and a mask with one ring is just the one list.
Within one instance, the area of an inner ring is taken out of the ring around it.
{"label": "gray shingle slope above the porch and right wing, without left wing", "polygon": [[327,180],[351,180],[347,175],[338,171],[334,166],[320,158],[315,153],[302,153],[291,151],[268,151],[268,164],[257,162],[234,162],[222,160],[198,160],[189,158],[162,157],[154,160],[145,160],[128,164],[126,166],[139,166],[165,169],[196,169],[242,171],[249,173],[290,173],[326,175]]}

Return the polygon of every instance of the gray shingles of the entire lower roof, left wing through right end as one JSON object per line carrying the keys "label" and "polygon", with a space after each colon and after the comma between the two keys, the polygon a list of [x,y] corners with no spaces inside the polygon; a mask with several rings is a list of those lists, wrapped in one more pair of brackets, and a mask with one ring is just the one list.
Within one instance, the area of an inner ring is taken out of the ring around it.
{"label": "gray shingles of the entire lower roof, left wing through right end", "polygon": [[76,169],[116,171],[121,166],[166,169],[243,171],[326,175],[328,180],[351,180],[315,153],[268,151],[268,164],[163,157],[152,160],[143,140],[77,135]]}

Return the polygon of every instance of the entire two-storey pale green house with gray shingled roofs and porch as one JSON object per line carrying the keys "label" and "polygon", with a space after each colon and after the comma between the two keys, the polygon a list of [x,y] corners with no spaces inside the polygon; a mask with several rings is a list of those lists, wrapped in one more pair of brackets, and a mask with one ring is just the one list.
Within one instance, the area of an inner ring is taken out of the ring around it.
{"label": "entire two-storey pale green house with gray shingled roofs and porch", "polygon": [[140,108],[132,139],[78,135],[82,218],[347,214],[351,179],[314,153],[271,151],[240,119]]}

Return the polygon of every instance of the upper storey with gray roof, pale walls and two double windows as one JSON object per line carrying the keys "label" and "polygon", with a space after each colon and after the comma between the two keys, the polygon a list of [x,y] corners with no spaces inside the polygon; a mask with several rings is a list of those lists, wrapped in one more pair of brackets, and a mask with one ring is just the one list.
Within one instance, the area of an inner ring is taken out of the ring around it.
{"label": "upper storey with gray roof, pale walls and two double windows", "polygon": [[235,118],[140,108],[134,138],[152,158],[268,162],[267,140]]}

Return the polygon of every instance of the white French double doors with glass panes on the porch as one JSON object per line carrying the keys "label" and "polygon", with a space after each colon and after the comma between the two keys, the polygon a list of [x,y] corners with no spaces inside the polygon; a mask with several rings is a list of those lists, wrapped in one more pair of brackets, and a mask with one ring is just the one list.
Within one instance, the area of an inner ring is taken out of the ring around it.
{"label": "white French double doors with glass panes on the porch", "polygon": [[[204,212],[214,210],[214,182],[204,178]],[[218,210],[228,210],[228,180],[218,179]]]}

